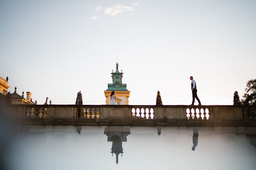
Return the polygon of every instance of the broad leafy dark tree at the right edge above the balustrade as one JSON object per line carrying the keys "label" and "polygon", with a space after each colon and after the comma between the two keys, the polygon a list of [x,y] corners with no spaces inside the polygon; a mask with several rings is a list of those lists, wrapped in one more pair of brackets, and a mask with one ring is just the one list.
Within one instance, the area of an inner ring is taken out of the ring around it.
{"label": "broad leafy dark tree at the right edge above the balustrade", "polygon": [[256,105],[256,79],[246,82],[245,93],[242,99],[243,105]]}

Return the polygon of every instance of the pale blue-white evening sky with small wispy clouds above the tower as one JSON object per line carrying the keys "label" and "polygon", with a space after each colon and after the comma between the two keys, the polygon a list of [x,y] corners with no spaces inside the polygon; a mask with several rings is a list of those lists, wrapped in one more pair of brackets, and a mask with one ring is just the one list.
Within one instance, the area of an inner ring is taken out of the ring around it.
{"label": "pale blue-white evening sky with small wispy clouds above the tower", "polygon": [[157,90],[164,105],[189,105],[189,76],[202,105],[232,105],[256,78],[255,9],[250,0],[0,0],[0,76],[38,104],[75,104],[81,91],[84,105],[104,105],[118,57],[129,105],[155,105]]}

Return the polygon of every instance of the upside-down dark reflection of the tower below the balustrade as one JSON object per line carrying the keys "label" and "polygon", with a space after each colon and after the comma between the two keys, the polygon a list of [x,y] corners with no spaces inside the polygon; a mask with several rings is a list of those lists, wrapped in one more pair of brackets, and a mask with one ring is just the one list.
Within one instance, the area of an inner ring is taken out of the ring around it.
{"label": "upside-down dark reflection of the tower below the balustrade", "polygon": [[108,142],[112,142],[111,153],[116,156],[116,163],[119,162],[118,156],[123,156],[123,142],[127,142],[127,136],[131,134],[129,126],[107,126],[104,134],[108,136]]}

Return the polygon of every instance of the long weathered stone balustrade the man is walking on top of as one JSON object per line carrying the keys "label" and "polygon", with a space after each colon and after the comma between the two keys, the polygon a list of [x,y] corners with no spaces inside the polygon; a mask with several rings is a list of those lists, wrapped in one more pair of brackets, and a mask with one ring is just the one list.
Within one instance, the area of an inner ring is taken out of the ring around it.
{"label": "long weathered stone balustrade the man is walking on top of", "polygon": [[246,123],[255,122],[256,106],[239,105],[11,105],[23,122],[51,123]]}

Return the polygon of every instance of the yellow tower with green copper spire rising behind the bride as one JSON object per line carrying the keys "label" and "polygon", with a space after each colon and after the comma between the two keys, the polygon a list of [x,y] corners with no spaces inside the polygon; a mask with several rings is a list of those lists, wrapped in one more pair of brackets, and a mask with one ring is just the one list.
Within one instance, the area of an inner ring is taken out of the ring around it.
{"label": "yellow tower with green copper spire rising behind the bride", "polygon": [[[113,70],[112,70],[113,71]],[[115,95],[117,97],[117,104],[128,105],[128,98],[130,97],[130,91],[126,89],[126,84],[123,84],[122,78],[123,73],[118,71],[118,63],[116,63],[116,71],[112,74],[112,84],[108,84],[108,89],[104,91],[106,97],[106,105],[110,103],[110,94],[115,90]]]}

